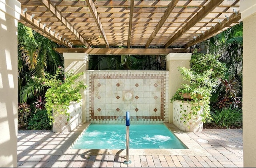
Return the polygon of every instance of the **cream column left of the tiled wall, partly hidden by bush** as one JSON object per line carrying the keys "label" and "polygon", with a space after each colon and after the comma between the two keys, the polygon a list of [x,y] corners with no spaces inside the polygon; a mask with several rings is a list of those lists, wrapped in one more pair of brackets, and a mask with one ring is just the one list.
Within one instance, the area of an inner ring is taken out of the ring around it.
{"label": "cream column left of the tiled wall, partly hidden by bush", "polygon": [[[65,72],[74,74],[84,72],[83,80],[86,84],[86,70],[88,70],[89,56],[86,53],[63,53]],[[82,123],[86,123],[86,90],[82,94]]]}

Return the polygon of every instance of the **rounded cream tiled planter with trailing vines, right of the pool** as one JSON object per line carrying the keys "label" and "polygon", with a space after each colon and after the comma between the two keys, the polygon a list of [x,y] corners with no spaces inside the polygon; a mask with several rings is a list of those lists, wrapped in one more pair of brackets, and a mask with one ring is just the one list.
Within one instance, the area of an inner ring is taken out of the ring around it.
{"label": "rounded cream tiled planter with trailing vines, right of the pool", "polygon": [[[182,105],[182,109],[180,107]],[[186,113],[190,112],[191,104],[187,101],[179,101],[176,100],[173,102],[173,124],[177,126],[180,130],[186,131],[186,132],[201,132],[203,130],[203,122],[202,117],[200,116],[203,113],[203,105],[201,105],[202,108],[200,111],[198,111],[198,115],[196,117],[196,120],[190,120],[184,125],[183,121],[180,120],[182,117],[182,113],[185,113],[184,110],[186,110]],[[182,111],[182,113],[180,113]]]}

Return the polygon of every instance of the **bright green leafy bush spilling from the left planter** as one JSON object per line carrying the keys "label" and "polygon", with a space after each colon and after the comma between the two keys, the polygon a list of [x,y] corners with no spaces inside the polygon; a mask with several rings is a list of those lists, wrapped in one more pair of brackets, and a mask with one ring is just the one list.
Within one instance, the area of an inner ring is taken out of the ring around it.
{"label": "bright green leafy bush spilling from the left planter", "polygon": [[[80,89],[86,89],[84,82],[79,80],[83,74],[84,72],[73,74],[72,71],[64,74],[64,69],[58,67],[53,75],[45,73],[44,78],[31,77],[36,83],[41,83],[43,87],[48,87],[45,93],[45,107],[52,122],[54,122],[52,113],[54,115],[65,115],[67,121],[69,121],[68,106],[70,102],[81,101],[82,95],[79,91]],[[52,111],[53,109],[54,111]]]}

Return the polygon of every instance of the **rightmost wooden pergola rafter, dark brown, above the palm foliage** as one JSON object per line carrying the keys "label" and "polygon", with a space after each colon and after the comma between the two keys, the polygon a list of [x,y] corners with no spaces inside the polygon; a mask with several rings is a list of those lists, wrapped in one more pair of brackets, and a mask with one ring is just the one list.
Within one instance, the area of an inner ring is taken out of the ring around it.
{"label": "rightmost wooden pergola rafter, dark brown, above the palm foliage", "polygon": [[226,18],[225,20],[223,20],[219,24],[215,25],[214,27],[209,29],[207,32],[204,32],[204,34],[201,34],[199,37],[196,37],[193,41],[190,41],[189,43],[187,43],[185,45],[185,48],[188,48],[192,45],[195,45],[196,43],[199,43],[199,42],[202,42],[203,40],[206,40],[207,38],[212,36],[212,34],[217,34],[223,28],[229,26],[230,24],[232,24],[234,22],[238,22],[238,20],[240,20],[240,19],[241,19],[241,14],[240,13],[234,13],[234,14],[230,15],[230,17]]}

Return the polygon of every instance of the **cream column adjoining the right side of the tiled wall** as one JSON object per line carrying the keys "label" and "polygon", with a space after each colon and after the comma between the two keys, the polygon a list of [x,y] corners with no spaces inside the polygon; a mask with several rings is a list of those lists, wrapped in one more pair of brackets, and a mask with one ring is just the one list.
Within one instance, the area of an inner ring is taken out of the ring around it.
{"label": "cream column adjoining the right side of the tiled wall", "polygon": [[[166,70],[169,71],[169,98],[175,94],[176,90],[184,83],[178,66],[189,68],[192,53],[169,53],[166,55]],[[169,123],[173,123],[172,103],[169,101]]]}

